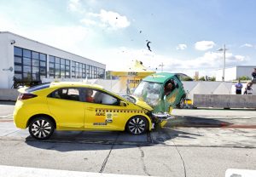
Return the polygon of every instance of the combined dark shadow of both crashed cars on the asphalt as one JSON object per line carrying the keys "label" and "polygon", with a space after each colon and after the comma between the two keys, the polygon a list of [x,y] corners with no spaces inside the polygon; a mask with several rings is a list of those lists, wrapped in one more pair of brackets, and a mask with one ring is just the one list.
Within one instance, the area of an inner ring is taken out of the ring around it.
{"label": "combined dark shadow of both crashed cars on the asphalt", "polygon": [[172,139],[175,138],[195,140],[202,136],[177,129],[178,127],[220,128],[231,124],[203,117],[176,117],[168,120],[165,127],[156,128],[142,135],[116,131],[55,131],[49,140],[35,140],[31,136],[27,136],[26,144],[39,149],[55,151],[123,149],[135,146],[170,145],[170,142],[172,145]]}

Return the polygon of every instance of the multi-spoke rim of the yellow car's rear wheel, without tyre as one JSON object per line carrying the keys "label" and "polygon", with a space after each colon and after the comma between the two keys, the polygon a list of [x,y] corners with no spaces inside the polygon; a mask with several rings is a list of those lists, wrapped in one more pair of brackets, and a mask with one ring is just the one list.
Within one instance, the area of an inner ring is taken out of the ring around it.
{"label": "multi-spoke rim of the yellow car's rear wheel, without tyre", "polygon": [[49,136],[51,132],[50,123],[46,120],[37,120],[32,124],[32,134],[39,139]]}

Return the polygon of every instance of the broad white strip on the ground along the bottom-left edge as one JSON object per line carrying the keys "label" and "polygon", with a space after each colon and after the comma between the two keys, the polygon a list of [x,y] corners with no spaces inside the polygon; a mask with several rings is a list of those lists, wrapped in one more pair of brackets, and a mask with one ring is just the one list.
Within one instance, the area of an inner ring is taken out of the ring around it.
{"label": "broad white strip on the ground along the bottom-left edge", "polygon": [[0,165],[0,176],[4,177],[143,177],[141,175],[126,175],[126,174],[100,174],[92,172],[67,171],[59,169],[46,168],[25,168]]}

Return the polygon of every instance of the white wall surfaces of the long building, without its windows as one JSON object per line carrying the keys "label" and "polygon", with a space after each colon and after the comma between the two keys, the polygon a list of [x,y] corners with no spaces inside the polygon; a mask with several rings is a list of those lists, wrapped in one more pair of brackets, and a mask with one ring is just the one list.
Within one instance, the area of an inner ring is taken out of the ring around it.
{"label": "white wall surfaces of the long building, without its windows", "polygon": [[[15,40],[15,44],[10,44],[11,40]],[[106,65],[94,60],[86,59],[82,56],[68,53],[67,51],[56,49],[44,43],[33,41],[26,37],[20,37],[10,32],[0,32],[0,88],[11,88],[13,85],[14,71],[3,71],[3,68],[14,68],[14,46],[23,49],[30,49],[36,52],[61,57],[67,60],[78,61],[90,66],[100,67],[106,70]],[[49,73],[49,65],[47,65],[47,73]],[[48,74],[49,77],[49,74]]]}

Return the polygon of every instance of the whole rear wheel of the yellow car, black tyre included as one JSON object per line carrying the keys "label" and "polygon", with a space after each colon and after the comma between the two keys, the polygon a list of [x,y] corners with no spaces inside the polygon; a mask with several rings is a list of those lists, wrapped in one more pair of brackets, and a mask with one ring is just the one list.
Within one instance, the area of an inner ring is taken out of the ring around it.
{"label": "whole rear wheel of the yellow car, black tyre included", "polygon": [[29,133],[38,140],[49,139],[54,130],[54,123],[48,117],[37,117],[29,125]]}

